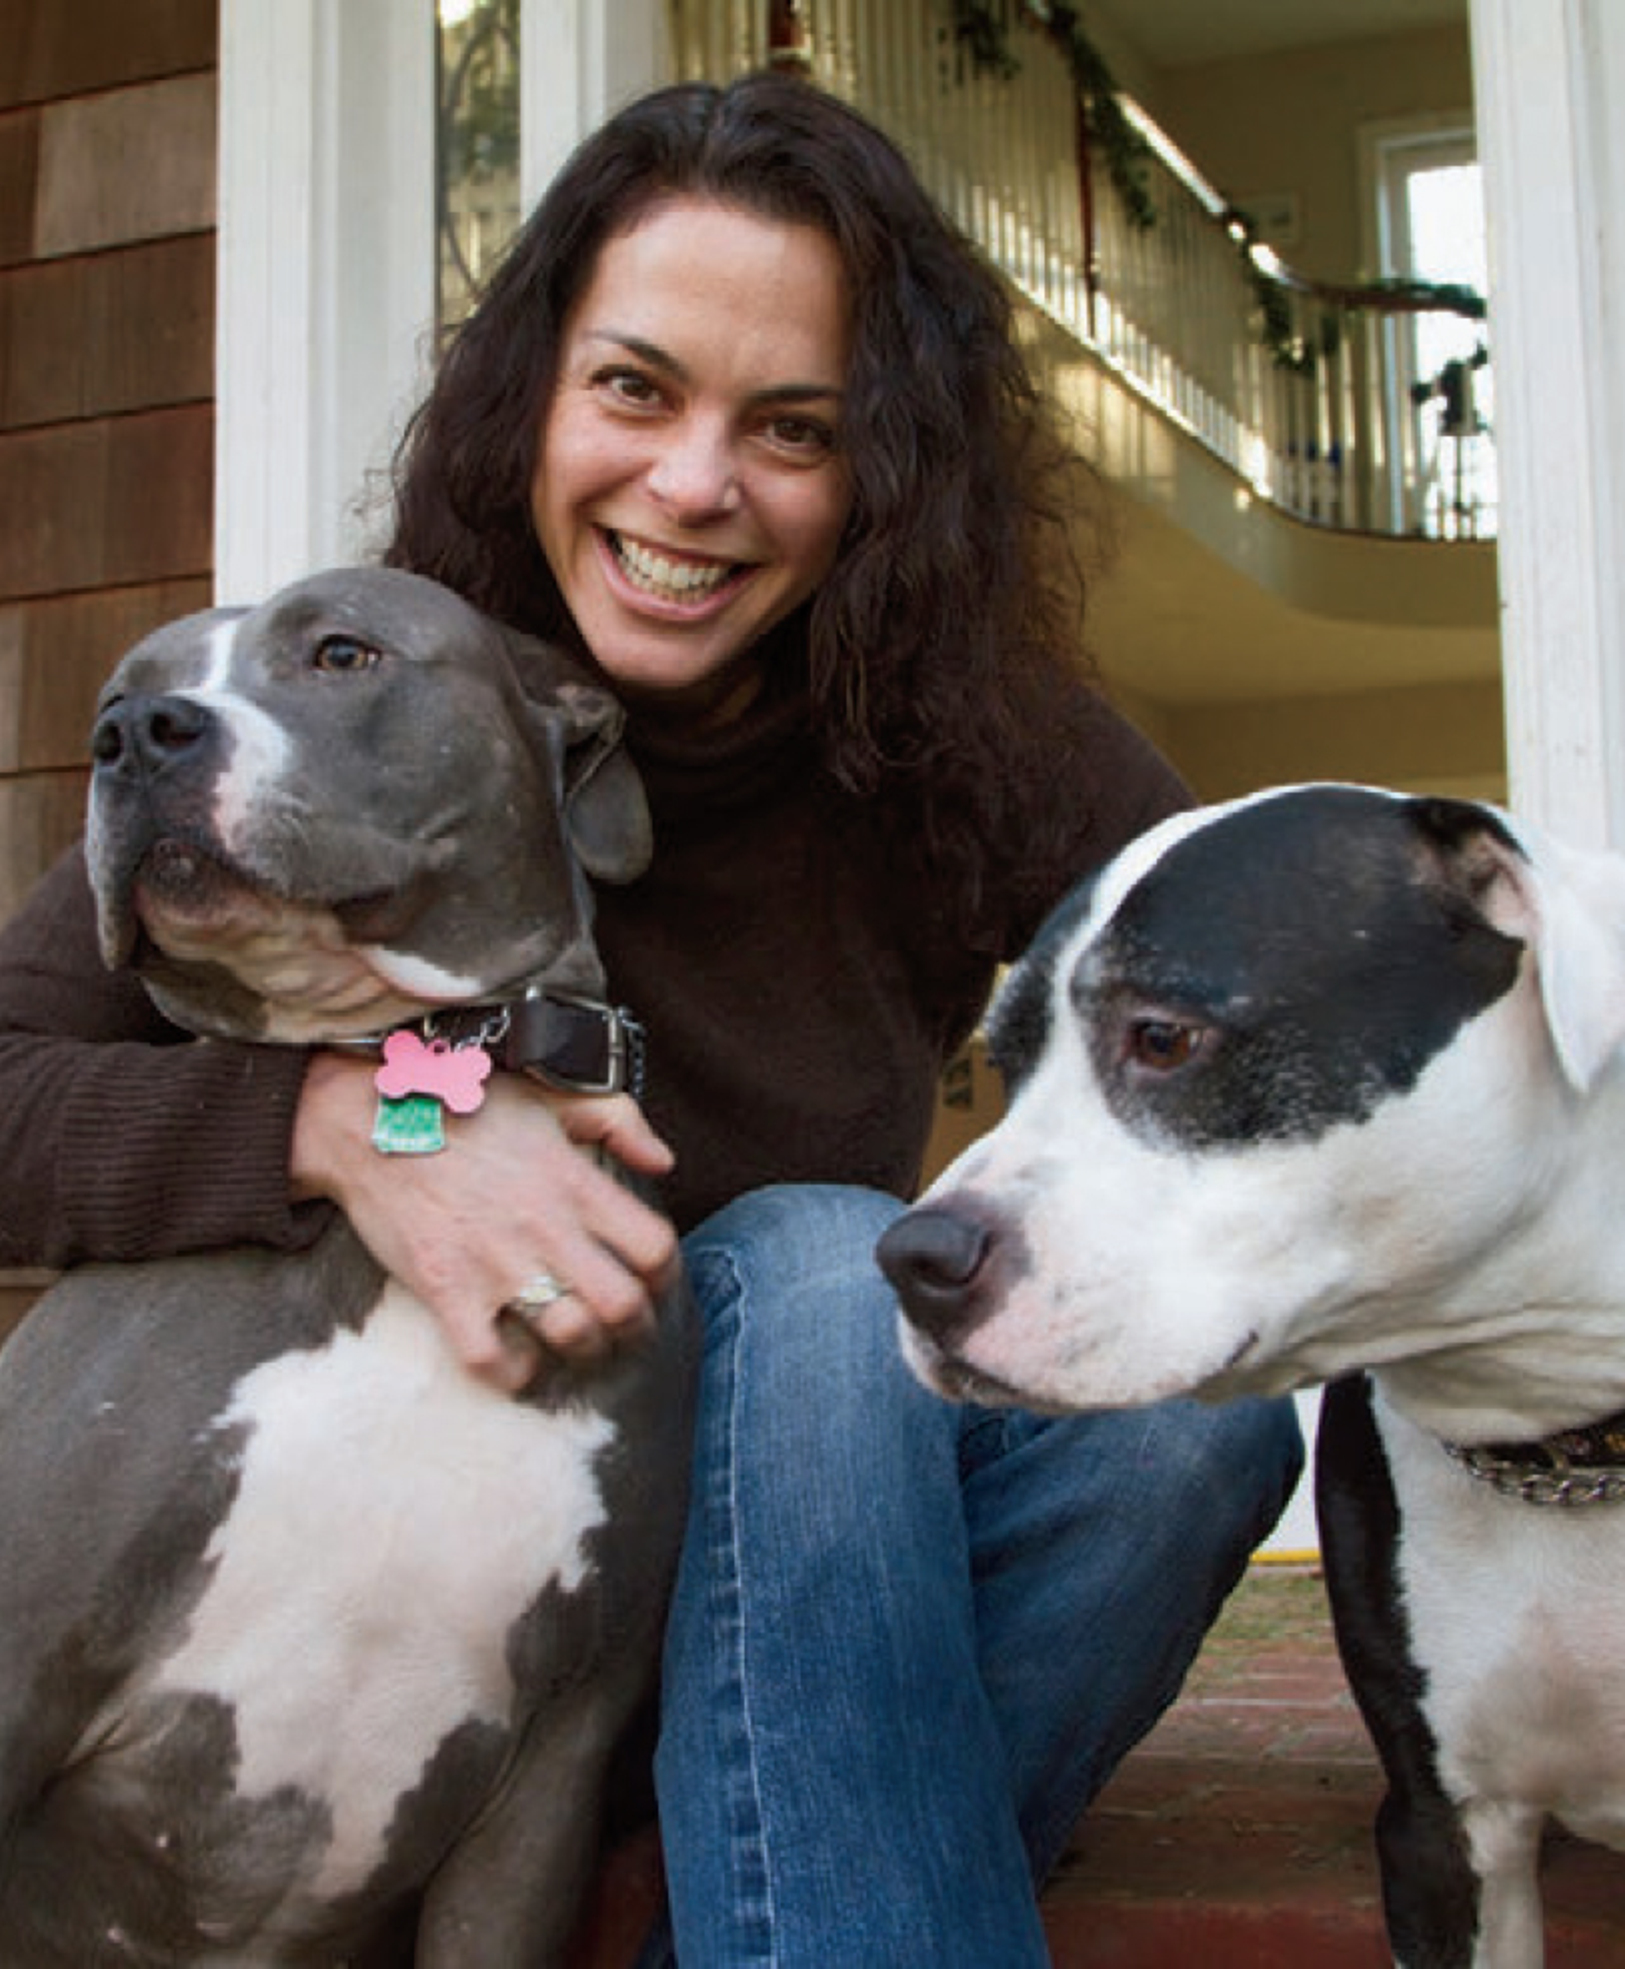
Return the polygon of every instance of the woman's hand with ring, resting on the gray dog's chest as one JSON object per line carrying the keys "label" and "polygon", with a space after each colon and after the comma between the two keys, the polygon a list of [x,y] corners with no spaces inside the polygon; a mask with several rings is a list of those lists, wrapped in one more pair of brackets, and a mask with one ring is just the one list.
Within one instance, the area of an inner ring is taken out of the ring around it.
{"label": "woman's hand with ring, resting on the gray dog's chest", "polygon": [[[654,1317],[678,1264],[672,1225],[587,1150],[664,1175],[672,1154],[628,1095],[559,1095],[492,1073],[477,1114],[447,1114],[433,1156],[372,1146],[372,1067],[315,1053],[293,1124],[293,1189],[331,1197],[372,1256],[445,1327],[463,1363],[518,1390],[548,1351],[605,1353]],[[569,1290],[520,1321],[528,1280]]]}

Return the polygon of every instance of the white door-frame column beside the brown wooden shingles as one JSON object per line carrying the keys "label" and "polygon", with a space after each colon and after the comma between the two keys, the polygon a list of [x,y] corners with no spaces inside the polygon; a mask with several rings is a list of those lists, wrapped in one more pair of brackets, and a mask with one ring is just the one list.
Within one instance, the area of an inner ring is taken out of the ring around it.
{"label": "white door-frame column beside the brown wooden shingles", "polygon": [[221,0],[221,601],[364,551],[433,319],[433,0]]}

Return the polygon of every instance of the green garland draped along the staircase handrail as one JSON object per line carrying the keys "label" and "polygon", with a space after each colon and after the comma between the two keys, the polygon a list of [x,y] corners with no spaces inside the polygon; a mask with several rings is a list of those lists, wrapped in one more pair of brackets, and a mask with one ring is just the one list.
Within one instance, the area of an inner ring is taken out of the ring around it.
{"label": "green garland draped along the staircase handrail", "polygon": [[[1089,144],[1105,163],[1123,211],[1137,226],[1156,224],[1156,201],[1146,185],[1150,146],[1123,114],[1123,93],[1105,57],[1083,30],[1079,10],[1070,0],[953,0],[953,37],[965,49],[979,75],[1001,81],[1020,73],[1010,53],[1010,20],[1026,20],[1038,28],[1064,55],[1072,71],[1077,100],[1083,106]],[[1424,280],[1383,280],[1361,287],[1328,291],[1314,341],[1294,325],[1290,284],[1278,280],[1257,260],[1259,228],[1253,219],[1229,207],[1217,221],[1241,256],[1243,272],[1259,307],[1259,341],[1270,360],[1284,370],[1308,376],[1322,356],[1330,356],[1343,335],[1341,317],[1349,309],[1387,299],[1410,301],[1416,307],[1448,307],[1473,321],[1483,321],[1483,295],[1460,284]],[[1316,284],[1324,287],[1324,284]]]}

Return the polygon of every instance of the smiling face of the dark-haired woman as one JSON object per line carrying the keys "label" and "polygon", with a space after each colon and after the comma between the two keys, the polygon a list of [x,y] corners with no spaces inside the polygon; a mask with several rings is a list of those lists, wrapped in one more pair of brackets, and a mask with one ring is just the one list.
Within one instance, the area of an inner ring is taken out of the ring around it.
{"label": "smiling face of the dark-haired woman", "polygon": [[605,240],[565,319],[530,512],[628,697],[727,713],[851,510],[845,270],[808,224],[672,197]]}

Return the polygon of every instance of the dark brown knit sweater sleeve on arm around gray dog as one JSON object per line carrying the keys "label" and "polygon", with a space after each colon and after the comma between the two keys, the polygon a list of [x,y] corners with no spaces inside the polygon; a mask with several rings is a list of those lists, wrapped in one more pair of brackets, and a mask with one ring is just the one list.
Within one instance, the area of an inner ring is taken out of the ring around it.
{"label": "dark brown knit sweater sleeve on arm around gray dog", "polygon": [[290,1199],[307,1055],[193,1040],[110,973],[75,849],[0,931],[0,1264],[307,1244]]}

